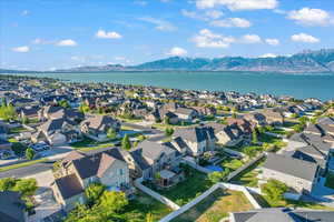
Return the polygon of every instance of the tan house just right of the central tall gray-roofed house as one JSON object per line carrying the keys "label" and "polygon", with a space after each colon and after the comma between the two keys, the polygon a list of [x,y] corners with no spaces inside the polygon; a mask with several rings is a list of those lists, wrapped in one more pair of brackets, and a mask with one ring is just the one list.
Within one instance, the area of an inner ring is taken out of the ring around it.
{"label": "tan house just right of the central tall gray-roofed house", "polygon": [[222,145],[234,147],[244,139],[244,132],[236,123],[224,125],[213,122],[208,123],[207,127],[212,127],[215,130],[217,143]]}

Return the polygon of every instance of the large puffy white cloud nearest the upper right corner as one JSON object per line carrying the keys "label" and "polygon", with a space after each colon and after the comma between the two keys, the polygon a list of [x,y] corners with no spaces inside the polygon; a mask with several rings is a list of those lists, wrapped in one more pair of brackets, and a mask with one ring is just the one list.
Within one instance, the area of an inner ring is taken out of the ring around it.
{"label": "large puffy white cloud nearest the upper right corner", "polygon": [[322,9],[302,8],[288,12],[287,18],[305,26],[334,24],[334,17],[331,17],[327,11]]}

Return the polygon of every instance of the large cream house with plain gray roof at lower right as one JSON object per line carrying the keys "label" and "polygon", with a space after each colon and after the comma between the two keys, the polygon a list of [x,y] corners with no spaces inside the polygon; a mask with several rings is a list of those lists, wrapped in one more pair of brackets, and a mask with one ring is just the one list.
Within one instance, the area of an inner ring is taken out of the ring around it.
{"label": "large cream house with plain gray roof at lower right", "polygon": [[318,176],[318,165],[287,155],[268,153],[263,165],[263,180],[278,180],[297,193],[311,193]]}

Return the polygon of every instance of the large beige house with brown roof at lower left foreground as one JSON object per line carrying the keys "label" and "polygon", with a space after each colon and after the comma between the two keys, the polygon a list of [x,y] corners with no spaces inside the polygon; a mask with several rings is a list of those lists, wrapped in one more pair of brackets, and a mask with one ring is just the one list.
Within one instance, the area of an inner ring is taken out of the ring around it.
{"label": "large beige house with brown roof at lower left foreground", "polygon": [[85,189],[91,183],[101,183],[107,190],[132,194],[129,168],[121,152],[117,148],[91,155],[70,152],[60,164],[60,176],[51,184],[56,201],[65,210],[71,210],[77,202],[85,202]]}

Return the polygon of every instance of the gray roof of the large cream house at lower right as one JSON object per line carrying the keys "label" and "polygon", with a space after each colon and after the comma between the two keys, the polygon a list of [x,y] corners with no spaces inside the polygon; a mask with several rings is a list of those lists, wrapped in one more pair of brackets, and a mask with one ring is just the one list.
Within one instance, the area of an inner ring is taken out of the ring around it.
{"label": "gray roof of the large cream house at lower right", "polygon": [[285,174],[313,181],[317,164],[287,155],[268,153],[263,168],[275,170]]}

